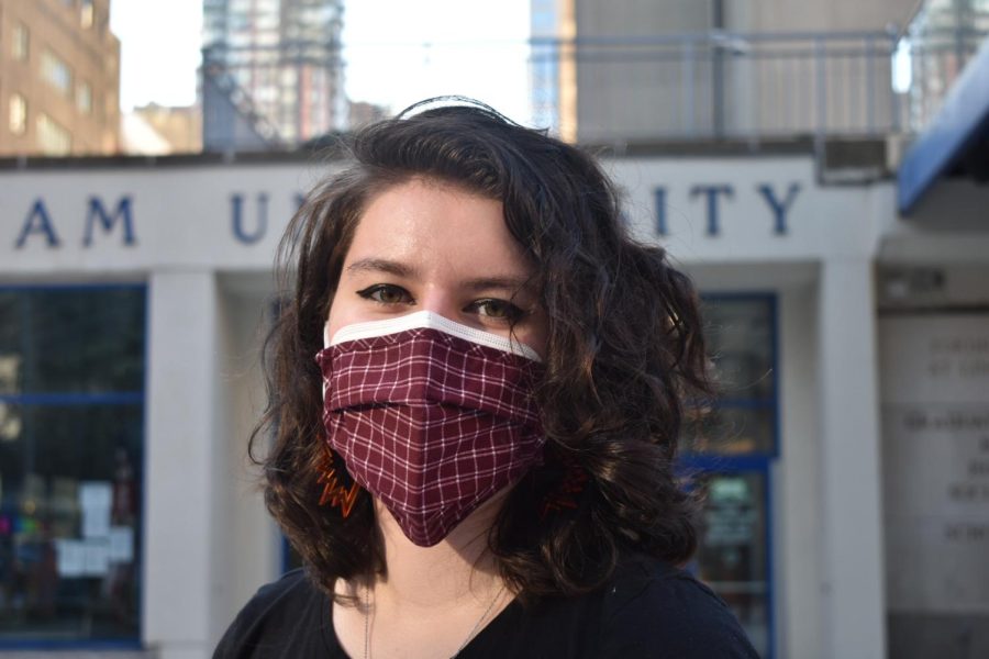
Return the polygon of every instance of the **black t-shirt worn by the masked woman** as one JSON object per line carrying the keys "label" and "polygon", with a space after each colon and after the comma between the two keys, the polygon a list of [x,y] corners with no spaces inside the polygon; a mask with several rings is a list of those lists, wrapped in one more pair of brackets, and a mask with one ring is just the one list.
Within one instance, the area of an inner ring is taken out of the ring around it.
{"label": "black t-shirt worn by the masked woman", "polygon": [[[332,604],[301,570],[263,587],[213,659],[347,659]],[[626,560],[588,595],[509,604],[458,659],[757,659],[735,617],[708,587],[645,557]]]}

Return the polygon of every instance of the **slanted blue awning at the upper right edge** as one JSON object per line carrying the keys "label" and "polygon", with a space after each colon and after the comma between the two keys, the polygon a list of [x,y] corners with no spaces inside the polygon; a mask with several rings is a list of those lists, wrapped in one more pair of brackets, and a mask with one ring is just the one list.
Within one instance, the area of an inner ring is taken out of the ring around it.
{"label": "slanted blue awning at the upper right edge", "polygon": [[900,213],[909,213],[941,175],[989,135],[989,40],[955,81],[931,125],[903,156]]}

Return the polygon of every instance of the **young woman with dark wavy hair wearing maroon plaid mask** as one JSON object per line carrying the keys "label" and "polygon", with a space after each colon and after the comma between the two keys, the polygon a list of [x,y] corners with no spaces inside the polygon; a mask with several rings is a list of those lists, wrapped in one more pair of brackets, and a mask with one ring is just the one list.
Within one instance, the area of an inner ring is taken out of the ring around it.
{"label": "young woman with dark wavy hair wearing maroon plaid mask", "polygon": [[697,295],[597,164],[476,103],[352,148],[287,232],[255,433],[305,570],[215,657],[755,657],[679,567]]}

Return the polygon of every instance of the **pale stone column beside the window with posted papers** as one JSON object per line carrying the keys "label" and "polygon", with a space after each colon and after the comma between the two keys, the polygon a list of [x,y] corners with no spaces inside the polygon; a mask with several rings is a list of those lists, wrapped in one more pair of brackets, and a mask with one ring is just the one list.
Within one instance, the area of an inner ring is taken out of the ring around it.
{"label": "pale stone column beside the window with posted papers", "polygon": [[148,284],[143,640],[159,659],[207,659],[216,534],[218,293],[212,272]]}

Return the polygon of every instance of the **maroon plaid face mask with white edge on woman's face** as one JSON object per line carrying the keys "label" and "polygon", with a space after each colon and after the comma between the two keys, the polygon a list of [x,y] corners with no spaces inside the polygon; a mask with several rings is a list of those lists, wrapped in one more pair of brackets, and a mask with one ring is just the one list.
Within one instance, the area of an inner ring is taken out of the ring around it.
{"label": "maroon plaid face mask with white edge on woman's face", "polygon": [[416,545],[542,461],[532,391],[544,368],[527,346],[427,311],[327,344],[316,361],[330,446]]}

